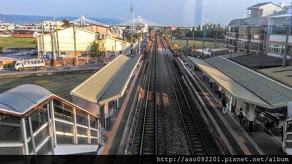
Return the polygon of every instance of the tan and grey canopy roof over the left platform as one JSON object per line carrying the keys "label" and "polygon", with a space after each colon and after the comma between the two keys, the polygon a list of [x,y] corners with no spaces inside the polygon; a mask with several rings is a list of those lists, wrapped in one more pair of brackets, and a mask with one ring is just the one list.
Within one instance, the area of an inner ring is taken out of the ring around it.
{"label": "tan and grey canopy roof over the left platform", "polygon": [[77,86],[71,95],[103,105],[123,96],[141,56],[119,55],[104,68]]}

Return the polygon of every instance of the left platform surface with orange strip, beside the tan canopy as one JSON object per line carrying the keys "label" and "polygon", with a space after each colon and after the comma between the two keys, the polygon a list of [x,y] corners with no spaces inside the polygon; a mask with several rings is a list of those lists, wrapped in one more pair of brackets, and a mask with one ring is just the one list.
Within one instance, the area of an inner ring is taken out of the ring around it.
{"label": "left platform surface with orange strip, beside the tan canopy", "polygon": [[125,143],[121,143],[123,140],[124,130],[128,129],[127,122],[128,117],[131,116],[132,102],[135,99],[135,93],[139,86],[141,73],[143,72],[145,62],[141,61],[141,65],[138,71],[133,74],[132,79],[126,90],[126,94],[119,99],[120,106],[115,108],[114,104],[110,104],[109,110],[110,125],[108,129],[103,129],[102,140],[103,146],[98,151],[98,154],[102,155],[115,155],[123,154],[121,152],[121,145],[125,146]]}

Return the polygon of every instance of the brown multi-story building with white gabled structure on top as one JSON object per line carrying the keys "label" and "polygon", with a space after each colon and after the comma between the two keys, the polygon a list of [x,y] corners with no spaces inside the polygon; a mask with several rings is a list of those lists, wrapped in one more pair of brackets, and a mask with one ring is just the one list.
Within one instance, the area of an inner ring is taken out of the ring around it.
{"label": "brown multi-story building with white gabled structure on top", "polygon": [[233,19],[228,24],[226,46],[230,52],[265,54],[269,18],[282,7],[272,2],[258,3],[247,8],[246,18]]}

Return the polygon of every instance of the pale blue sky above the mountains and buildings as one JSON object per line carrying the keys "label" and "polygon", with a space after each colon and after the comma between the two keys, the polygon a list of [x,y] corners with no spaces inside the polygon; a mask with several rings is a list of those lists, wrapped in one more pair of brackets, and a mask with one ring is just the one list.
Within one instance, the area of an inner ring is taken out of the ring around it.
{"label": "pale blue sky above the mountains and buildings", "polygon": [[[272,1],[290,5],[291,0],[203,0],[202,22],[227,25],[231,19],[245,15],[246,8],[256,3]],[[162,24],[192,26],[195,0],[0,0],[0,14],[72,16],[85,18],[131,18],[129,6],[134,5],[134,16]]]}

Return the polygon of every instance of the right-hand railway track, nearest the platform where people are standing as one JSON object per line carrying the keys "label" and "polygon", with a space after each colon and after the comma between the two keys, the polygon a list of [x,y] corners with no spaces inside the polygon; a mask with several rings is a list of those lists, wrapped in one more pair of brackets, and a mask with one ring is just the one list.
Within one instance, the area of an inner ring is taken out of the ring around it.
{"label": "right-hand railway track, nearest the platform where people are standing", "polygon": [[205,144],[205,141],[201,135],[199,127],[195,116],[192,112],[191,106],[186,98],[186,95],[183,91],[183,87],[180,83],[177,73],[175,72],[174,66],[167,54],[167,49],[165,47],[163,38],[158,36],[162,45],[163,55],[165,62],[167,64],[167,70],[170,76],[172,87],[175,93],[175,97],[178,103],[178,107],[181,113],[181,118],[183,121],[184,130],[188,139],[189,147],[192,155],[209,155],[208,148]]}

